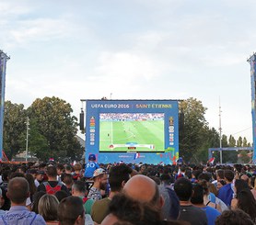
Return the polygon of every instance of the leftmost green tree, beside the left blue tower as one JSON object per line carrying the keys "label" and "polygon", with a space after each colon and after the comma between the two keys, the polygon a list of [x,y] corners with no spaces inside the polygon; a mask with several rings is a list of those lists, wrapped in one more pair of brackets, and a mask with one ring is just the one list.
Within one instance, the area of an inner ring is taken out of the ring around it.
{"label": "leftmost green tree, beside the left blue tower", "polygon": [[3,146],[9,159],[26,147],[26,110],[22,104],[5,103]]}

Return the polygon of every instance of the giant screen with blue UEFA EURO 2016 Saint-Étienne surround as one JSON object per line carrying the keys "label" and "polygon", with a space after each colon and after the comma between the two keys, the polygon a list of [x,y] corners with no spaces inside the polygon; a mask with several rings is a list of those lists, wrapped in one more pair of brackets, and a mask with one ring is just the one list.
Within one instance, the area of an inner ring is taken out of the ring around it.
{"label": "giant screen with blue UEFA EURO 2016 Saint-\u00c9tienne surround", "polygon": [[176,163],[179,109],[172,100],[87,100],[86,161]]}

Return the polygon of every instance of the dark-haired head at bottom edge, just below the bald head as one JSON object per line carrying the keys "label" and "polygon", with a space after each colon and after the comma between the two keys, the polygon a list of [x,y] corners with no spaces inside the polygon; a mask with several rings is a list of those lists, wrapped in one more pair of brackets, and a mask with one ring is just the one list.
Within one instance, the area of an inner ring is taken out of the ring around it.
{"label": "dark-haired head at bottom edge, just below the bald head", "polygon": [[126,195],[115,195],[109,206],[110,214],[103,219],[101,225],[114,224],[160,224],[158,208],[151,204],[136,201]]}

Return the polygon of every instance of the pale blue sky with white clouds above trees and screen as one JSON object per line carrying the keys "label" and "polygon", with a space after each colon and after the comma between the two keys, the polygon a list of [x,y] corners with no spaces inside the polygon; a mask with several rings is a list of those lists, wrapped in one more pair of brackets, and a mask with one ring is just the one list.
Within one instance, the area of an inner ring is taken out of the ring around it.
{"label": "pale blue sky with white clouds above trees and screen", "polygon": [[[186,99],[210,127],[251,141],[252,0],[0,0],[0,49],[10,55],[6,100],[58,96]],[[243,130],[243,131],[242,131]]]}

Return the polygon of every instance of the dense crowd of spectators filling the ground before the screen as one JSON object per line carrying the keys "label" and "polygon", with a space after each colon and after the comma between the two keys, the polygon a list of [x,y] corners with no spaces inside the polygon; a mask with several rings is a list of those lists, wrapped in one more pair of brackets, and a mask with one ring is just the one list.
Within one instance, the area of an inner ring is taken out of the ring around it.
{"label": "dense crowd of spectators filling the ground before the screen", "polygon": [[250,165],[0,164],[0,224],[255,224]]}

